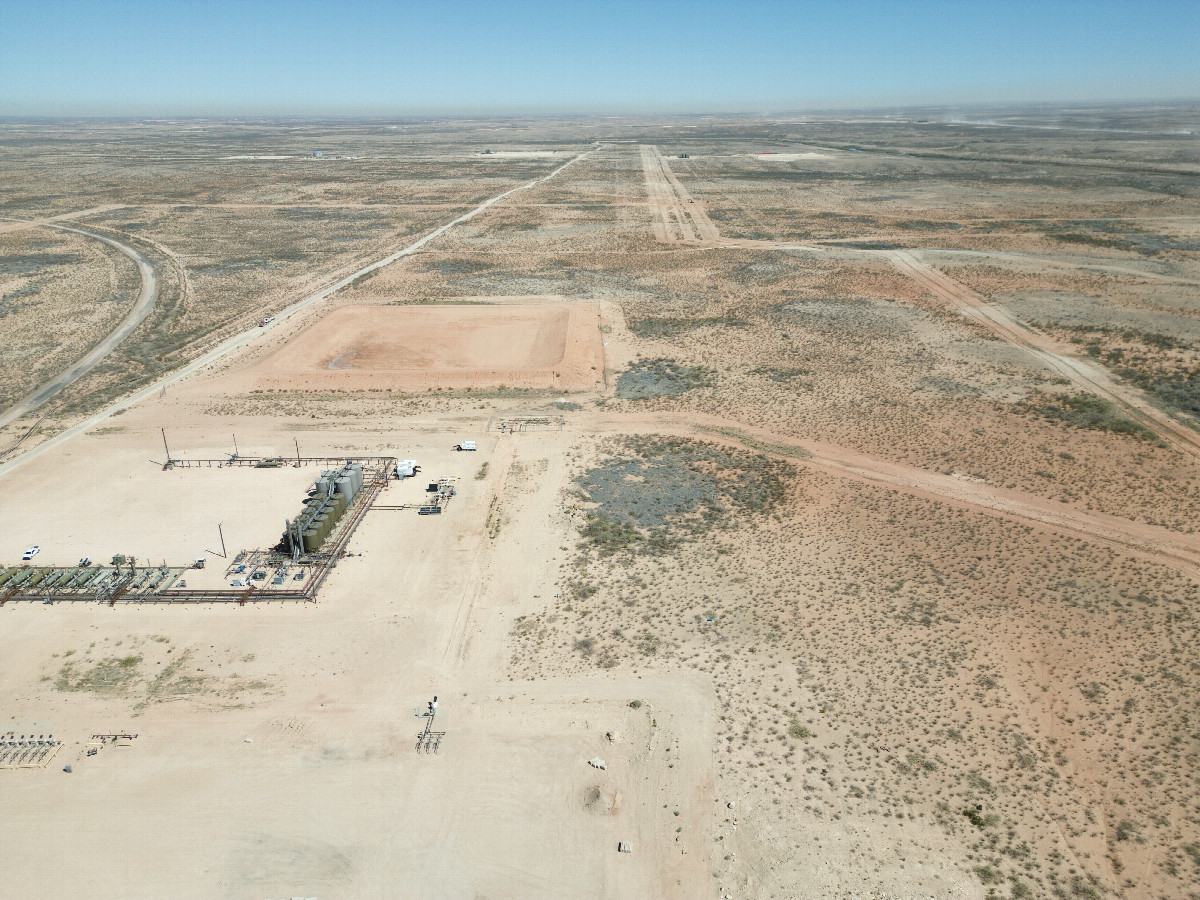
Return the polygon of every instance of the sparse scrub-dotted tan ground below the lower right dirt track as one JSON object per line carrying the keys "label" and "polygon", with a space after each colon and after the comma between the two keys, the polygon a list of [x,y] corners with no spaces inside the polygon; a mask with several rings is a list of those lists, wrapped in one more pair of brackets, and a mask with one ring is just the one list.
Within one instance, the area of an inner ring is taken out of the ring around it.
{"label": "sparse scrub-dotted tan ground below the lower right dirt track", "polygon": [[[932,824],[1016,896],[1109,890],[1108,859],[1188,832],[1177,692],[1195,680],[1180,665],[1200,647],[1195,582],[812,475],[773,512],[619,569],[587,539],[590,521],[581,512],[562,599],[514,631],[515,673],[709,673],[724,790],[760,798],[764,828]],[[1081,643],[1087,654],[1066,652]],[[1032,648],[1052,661],[1030,667]],[[1108,790],[1094,809],[1090,785]]]}

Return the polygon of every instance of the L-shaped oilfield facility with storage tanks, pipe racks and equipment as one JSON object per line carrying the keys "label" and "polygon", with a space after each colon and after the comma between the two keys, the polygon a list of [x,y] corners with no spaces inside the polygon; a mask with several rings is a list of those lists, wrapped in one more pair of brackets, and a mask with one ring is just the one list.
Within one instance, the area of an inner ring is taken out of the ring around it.
{"label": "L-shaped oilfield facility with storage tanks, pipe racks and equipment", "polygon": [[[209,557],[186,565],[148,563],[144,557],[116,553],[109,565],[92,565],[86,557],[76,565],[0,565],[0,606],[8,602],[203,604],[316,601],[317,593],[367,512],[416,510],[440,515],[455,496],[457,478],[432,482],[420,498],[390,505],[376,500],[388,486],[413,478],[420,467],[413,460],[391,456],[360,457],[253,457],[234,454],[228,458],[173,458],[162,464],[173,469],[278,469],[320,467],[326,469],[307,488],[301,512],[286,522],[283,536],[270,550],[242,550],[223,566],[228,587],[212,583],[216,566]],[[223,533],[218,527],[223,544]],[[227,558],[228,554],[220,554]]]}

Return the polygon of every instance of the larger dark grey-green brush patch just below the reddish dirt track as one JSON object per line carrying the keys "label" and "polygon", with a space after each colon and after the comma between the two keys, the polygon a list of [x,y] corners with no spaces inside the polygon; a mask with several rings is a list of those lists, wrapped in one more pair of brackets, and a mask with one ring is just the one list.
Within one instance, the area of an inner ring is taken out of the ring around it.
{"label": "larger dark grey-green brush patch just below the reddish dirt track", "polygon": [[575,479],[590,504],[584,546],[662,553],[736,516],[764,512],[786,494],[788,463],[760,454],[667,437],[614,442]]}

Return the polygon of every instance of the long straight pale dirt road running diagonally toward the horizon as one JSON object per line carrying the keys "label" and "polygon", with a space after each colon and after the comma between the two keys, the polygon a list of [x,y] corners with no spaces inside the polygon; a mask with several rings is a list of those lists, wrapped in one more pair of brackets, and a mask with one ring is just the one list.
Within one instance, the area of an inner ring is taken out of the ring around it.
{"label": "long straight pale dirt road running diagonally toward the horizon", "polygon": [[[239,349],[241,349],[242,347],[245,347],[246,344],[248,344],[251,341],[257,340],[263,334],[266,334],[266,332],[271,331],[272,329],[280,328],[281,325],[283,325],[284,322],[287,322],[288,319],[293,318],[294,316],[298,316],[299,313],[301,313],[302,311],[307,310],[313,304],[320,302],[322,300],[324,300],[325,298],[330,296],[331,294],[335,294],[338,290],[341,290],[342,288],[352,284],[356,278],[360,278],[364,275],[367,275],[368,272],[373,272],[377,269],[383,269],[385,265],[390,265],[391,263],[395,263],[397,259],[402,259],[403,257],[407,257],[407,256],[409,256],[412,253],[415,253],[421,247],[424,247],[426,244],[428,244],[431,240],[433,240],[436,238],[439,238],[440,235],[445,234],[446,232],[449,232],[455,226],[458,226],[458,224],[462,224],[463,222],[470,221],[472,218],[474,218],[475,216],[478,216],[480,212],[482,212],[484,210],[488,209],[493,204],[499,203],[504,198],[511,197],[512,194],[517,193],[518,191],[528,191],[528,190],[530,190],[533,187],[536,187],[538,185],[541,185],[541,184],[545,184],[546,181],[550,181],[552,178],[554,178],[560,172],[563,172],[563,169],[568,168],[569,166],[575,164],[580,160],[583,160],[584,157],[587,157],[592,152],[593,152],[592,150],[584,150],[578,156],[574,156],[570,160],[568,160],[566,162],[564,162],[562,166],[559,166],[557,169],[554,169],[553,172],[551,172],[548,175],[542,175],[541,178],[536,178],[533,181],[526,181],[523,185],[517,185],[516,187],[510,187],[504,193],[497,194],[496,197],[492,197],[491,199],[484,200],[481,204],[479,204],[478,206],[475,206],[469,212],[464,212],[463,215],[458,216],[457,218],[455,218],[455,220],[452,220],[450,222],[446,222],[444,226],[440,226],[439,228],[433,229],[432,232],[430,232],[428,234],[426,234],[424,238],[420,238],[416,241],[414,241],[413,244],[409,244],[403,250],[398,250],[395,253],[391,253],[391,254],[384,257],[383,259],[378,259],[374,263],[365,265],[361,269],[359,269],[358,271],[352,272],[350,275],[347,275],[346,277],[340,278],[338,281],[335,281],[329,287],[322,288],[316,294],[311,294],[311,295],[306,296],[306,298],[304,298],[302,300],[298,300],[292,306],[289,306],[286,310],[283,310],[282,312],[280,312],[278,316],[275,317],[275,320],[271,322],[271,323],[269,323],[265,328],[254,328],[254,329],[252,329],[250,331],[244,331],[240,335],[234,335],[233,337],[228,338],[227,341],[223,341],[222,343],[217,344],[214,349],[209,350],[208,353],[205,353],[199,359],[192,360],[191,362],[188,362],[182,368],[180,368],[180,370],[178,370],[175,372],[172,372],[166,378],[162,378],[161,380],[157,380],[154,384],[150,384],[150,385],[143,388],[142,390],[137,391],[136,394],[131,394],[130,396],[124,397],[124,398],[116,401],[115,403],[113,403],[109,407],[106,407],[104,409],[102,409],[101,412],[96,413],[95,415],[91,415],[88,419],[83,420],[82,422],[78,422],[77,425],[73,425],[72,427],[67,428],[61,434],[55,434],[49,440],[47,440],[47,442],[44,442],[42,444],[38,444],[37,446],[31,448],[30,450],[26,450],[25,452],[20,454],[19,456],[16,456],[12,460],[8,460],[4,464],[0,464],[0,478],[4,478],[5,475],[10,474],[11,472],[14,472],[17,468],[19,468],[20,466],[24,466],[30,460],[36,460],[42,454],[48,452],[49,450],[53,450],[54,448],[64,444],[65,442],[70,440],[71,438],[76,437],[77,434],[82,434],[85,431],[88,431],[89,428],[95,428],[97,425],[100,425],[100,422],[104,421],[106,419],[109,419],[113,415],[116,415],[118,413],[124,412],[124,410],[128,409],[130,407],[136,406],[137,403],[140,403],[143,400],[146,400],[148,397],[154,396],[155,394],[157,394],[158,391],[161,391],[163,388],[167,388],[168,385],[175,384],[176,382],[181,382],[184,378],[187,378],[190,374],[194,374],[196,372],[200,371],[202,368],[204,368],[206,366],[211,366],[214,362],[217,362],[217,361],[224,359],[226,356],[228,356],[229,354],[238,352]],[[78,229],[74,229],[74,228],[68,228],[67,226],[52,226],[52,227],[53,228],[64,228],[66,230],[78,230]],[[92,236],[100,238],[100,235],[92,235]],[[107,239],[107,238],[100,238],[100,239],[104,240],[104,241],[108,241],[108,242],[113,244],[114,246],[116,246],[116,242],[112,241],[110,239]],[[130,252],[136,252],[136,251],[131,250]],[[148,269],[149,269],[149,264],[148,264]],[[150,270],[149,274],[150,274],[150,276],[152,278],[154,271]],[[155,294],[157,295],[157,284],[155,284]],[[12,421],[12,420],[10,419],[8,421]]]}

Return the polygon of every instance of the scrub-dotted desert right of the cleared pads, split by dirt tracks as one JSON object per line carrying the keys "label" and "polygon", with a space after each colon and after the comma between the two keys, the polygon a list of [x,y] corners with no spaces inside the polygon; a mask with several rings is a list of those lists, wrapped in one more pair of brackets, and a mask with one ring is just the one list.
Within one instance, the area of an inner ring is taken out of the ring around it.
{"label": "scrub-dotted desert right of the cleared pads, split by dirt tracks", "polygon": [[[684,142],[671,149],[689,151],[670,162],[722,238],[863,242],[670,253],[629,221],[636,208],[622,206],[598,251],[568,230],[576,214],[564,199],[552,220],[550,204],[539,206],[553,238],[511,229],[503,263],[484,223],[456,232],[443,252],[462,262],[443,295],[574,286],[575,295],[616,300],[636,359],[614,372],[604,412],[652,432],[655,415],[724,419],[785,444],[826,442],[1195,533],[1194,457],[948,310],[878,253],[944,251],[929,259],[1194,427],[1200,269],[1189,244],[1190,173],[1138,175],[1134,188],[1121,168],[1048,163],[1031,175],[1028,162],[996,162],[1007,167],[1000,178],[973,161],[931,170],[905,160],[901,173],[865,154],[773,163],[736,152],[709,158]],[[584,173],[617,152],[589,160],[557,188],[577,197]],[[632,169],[634,152],[624,156]],[[1194,169],[1195,158],[1180,164]],[[779,168],[794,178],[766,174]],[[606,184],[599,174],[587,188],[628,196],[623,179]],[[882,190],[896,196],[881,198]],[[846,210],[866,204],[875,218],[847,230]],[[943,227],[914,205],[941,210]],[[1096,220],[1139,218],[1146,206],[1148,221],[1122,233],[1152,230],[1162,216],[1175,236],[1120,246],[1078,236],[1112,234]],[[840,210],[836,223],[830,208]],[[916,216],[930,222],[913,224]],[[727,221],[737,226],[725,230]],[[618,238],[625,259],[637,260],[620,287],[605,259]],[[569,275],[559,263],[568,248]],[[972,253],[950,252],[959,250]],[[479,262],[474,271],[469,259]],[[380,290],[427,290],[402,270],[391,277],[394,287],[377,281]],[[636,286],[634,296],[626,286]],[[623,391],[622,379],[635,378],[646,392]],[[588,479],[616,464],[613,452],[580,448],[583,484],[568,490],[580,492],[578,550],[563,569],[560,600],[514,629],[514,666],[521,677],[710,674],[722,702],[727,786],[718,793],[748,806],[722,810],[726,822],[739,821],[743,841],[720,854],[725,883],[763,896],[862,883],[814,850],[828,829],[841,838],[827,841],[902,895],[895,841],[906,860],[934,854],[923,841],[936,826],[983,893],[1192,895],[1200,874],[1194,574],[848,485],[805,472],[803,461],[788,499],[770,511],[730,511],[731,522],[718,524],[676,510],[676,545],[654,524],[598,523],[587,511],[595,502]],[[654,494],[628,462],[612,478],[632,479],[643,502]],[[662,490],[667,509],[688,493]],[[696,521],[706,522],[702,535]],[[746,839],[748,827],[761,842]]]}

